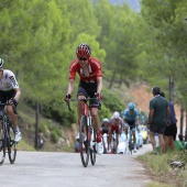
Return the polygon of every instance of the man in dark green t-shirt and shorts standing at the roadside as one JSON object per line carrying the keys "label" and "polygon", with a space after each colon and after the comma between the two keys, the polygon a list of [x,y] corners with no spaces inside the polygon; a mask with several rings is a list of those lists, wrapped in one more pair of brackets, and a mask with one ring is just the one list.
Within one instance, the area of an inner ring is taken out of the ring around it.
{"label": "man in dark green t-shirt and shorts standing at the roadside", "polygon": [[155,133],[158,133],[160,150],[161,153],[164,153],[165,146],[163,134],[166,125],[169,125],[170,123],[170,112],[167,100],[160,96],[161,88],[157,86],[153,87],[152,94],[154,98],[150,101],[147,124],[150,125],[150,139],[153,146],[153,154],[156,154],[156,141],[154,135]]}

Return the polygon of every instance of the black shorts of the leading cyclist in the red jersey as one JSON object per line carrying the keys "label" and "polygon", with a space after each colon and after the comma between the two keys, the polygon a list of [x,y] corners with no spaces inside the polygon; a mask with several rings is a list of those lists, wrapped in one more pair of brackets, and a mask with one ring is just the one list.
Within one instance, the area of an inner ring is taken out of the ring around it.
{"label": "black shorts of the leading cyclist in the red jersey", "polygon": [[[86,98],[97,98],[95,95],[97,92],[97,82],[79,82],[78,90],[77,90],[77,97],[78,96],[85,96]],[[98,108],[100,109],[101,102],[98,99],[90,100],[90,107],[91,108]]]}

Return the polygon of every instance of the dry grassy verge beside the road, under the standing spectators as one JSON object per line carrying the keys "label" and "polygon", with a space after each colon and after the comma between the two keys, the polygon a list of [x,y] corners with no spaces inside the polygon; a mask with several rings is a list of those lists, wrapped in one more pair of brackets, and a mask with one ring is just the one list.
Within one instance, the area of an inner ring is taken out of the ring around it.
{"label": "dry grassy verge beside the road, under the standing spectators", "polygon": [[169,161],[182,161],[187,164],[187,153],[167,152],[162,155],[146,153],[138,160],[147,168],[152,183],[147,187],[187,187],[187,169],[172,168]]}

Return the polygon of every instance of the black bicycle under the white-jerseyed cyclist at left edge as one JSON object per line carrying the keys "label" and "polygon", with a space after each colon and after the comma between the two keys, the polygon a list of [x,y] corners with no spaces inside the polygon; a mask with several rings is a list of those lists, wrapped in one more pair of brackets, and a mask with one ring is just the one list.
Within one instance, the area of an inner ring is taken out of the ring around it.
{"label": "black bicycle under the white-jerseyed cyclist at left edge", "polygon": [[[0,121],[1,121],[1,139],[0,139],[0,165],[3,164],[6,160],[6,152],[8,150],[9,161],[11,164],[15,162],[16,157],[16,142],[11,139],[12,132],[12,122],[11,119],[8,117],[8,114],[4,111],[4,107],[10,106],[10,103],[0,103]],[[15,107],[13,107],[14,113],[16,113]]]}

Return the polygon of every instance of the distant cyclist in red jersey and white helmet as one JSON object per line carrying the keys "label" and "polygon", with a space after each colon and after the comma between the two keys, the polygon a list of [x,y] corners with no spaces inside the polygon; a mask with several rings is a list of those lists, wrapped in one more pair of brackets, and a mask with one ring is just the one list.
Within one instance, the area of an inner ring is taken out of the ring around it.
{"label": "distant cyclist in red jersey and white helmet", "polygon": [[[117,147],[119,144],[119,134],[121,134],[122,125],[123,125],[123,119],[120,118],[120,113],[116,111],[112,116],[112,118],[109,121],[109,146],[108,151],[111,148],[111,139],[112,139],[112,133],[116,131],[117,134]],[[117,150],[116,150],[117,151]]]}

